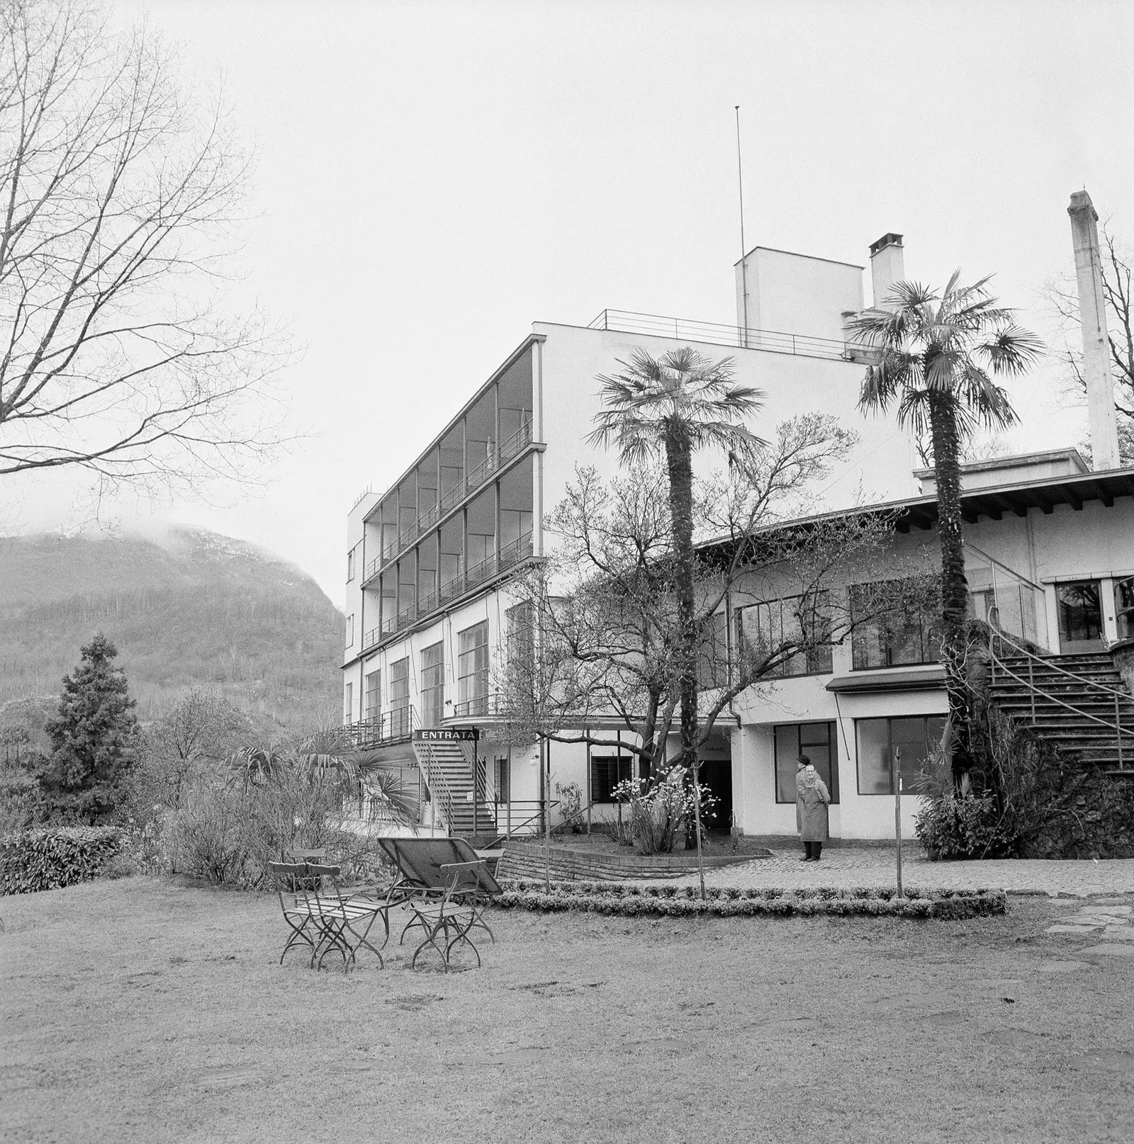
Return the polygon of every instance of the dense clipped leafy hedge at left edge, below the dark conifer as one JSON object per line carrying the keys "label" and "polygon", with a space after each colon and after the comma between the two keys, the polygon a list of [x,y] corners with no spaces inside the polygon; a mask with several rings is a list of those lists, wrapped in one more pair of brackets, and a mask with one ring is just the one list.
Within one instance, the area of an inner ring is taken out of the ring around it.
{"label": "dense clipped leafy hedge at left edge, below the dark conifer", "polygon": [[117,826],[56,826],[0,839],[0,895],[86,882],[121,850],[126,837]]}

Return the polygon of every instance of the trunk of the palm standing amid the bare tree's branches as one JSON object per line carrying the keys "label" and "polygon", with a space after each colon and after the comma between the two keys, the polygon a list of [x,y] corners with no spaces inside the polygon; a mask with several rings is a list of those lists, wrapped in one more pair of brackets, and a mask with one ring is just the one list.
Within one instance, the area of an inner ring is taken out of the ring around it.
{"label": "trunk of the palm standing amid the bare tree's branches", "polygon": [[[669,521],[677,589],[677,691],[681,699],[680,765],[692,778],[695,828],[692,845],[700,856],[700,807],[697,782],[697,614],[693,598],[693,467],[689,431],[674,419],[666,431]],[[689,832],[685,849],[691,849]]]}

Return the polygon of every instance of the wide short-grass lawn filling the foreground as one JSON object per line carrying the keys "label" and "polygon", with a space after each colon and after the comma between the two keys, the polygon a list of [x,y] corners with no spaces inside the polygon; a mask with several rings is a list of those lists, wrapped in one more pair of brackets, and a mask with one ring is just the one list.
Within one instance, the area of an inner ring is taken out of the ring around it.
{"label": "wide short-grass lawn filling the foreground", "polygon": [[1134,1138],[1134,958],[1007,917],[495,912],[484,967],[280,968],[273,897],[0,899],[0,1138]]}

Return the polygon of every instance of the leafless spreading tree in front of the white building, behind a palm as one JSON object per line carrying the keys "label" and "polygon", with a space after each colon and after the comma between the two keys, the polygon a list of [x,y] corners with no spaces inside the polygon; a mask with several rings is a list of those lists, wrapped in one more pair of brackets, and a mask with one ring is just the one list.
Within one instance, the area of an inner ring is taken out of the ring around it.
{"label": "leafless spreading tree in front of the white building, behind a palm", "polygon": [[[807,414],[780,424],[774,440],[736,458],[727,474],[695,482],[693,519],[703,541],[695,752],[742,692],[772,686],[800,657],[822,654],[856,628],[909,607],[911,594],[933,595],[936,579],[921,565],[905,570],[920,575],[899,588],[902,569],[893,559],[879,574],[890,515],[788,523],[854,442],[833,418]],[[547,529],[560,539],[556,554],[512,586],[516,603],[497,657],[499,714],[509,737],[613,747],[660,778],[683,674],[666,472],[648,466],[606,483],[593,468],[578,468]],[[853,599],[849,583],[862,585]],[[761,601],[786,611],[740,642],[729,617]],[[697,769],[695,763],[693,784]]]}

